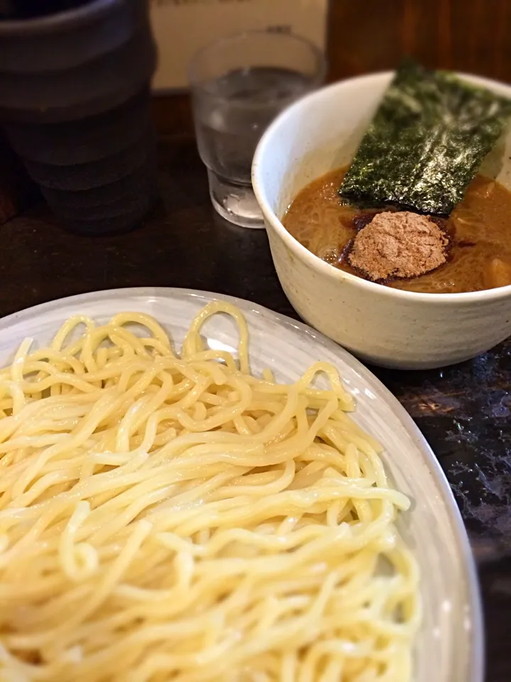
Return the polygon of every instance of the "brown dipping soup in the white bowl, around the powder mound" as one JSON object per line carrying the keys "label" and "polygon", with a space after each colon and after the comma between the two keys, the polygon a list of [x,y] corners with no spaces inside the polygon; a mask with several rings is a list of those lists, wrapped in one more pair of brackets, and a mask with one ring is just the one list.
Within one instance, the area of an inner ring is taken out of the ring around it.
{"label": "brown dipping soup in the white bowl, around the powder mound", "polygon": [[[360,276],[348,264],[346,254],[357,227],[363,227],[379,210],[361,210],[341,201],[339,187],[347,168],[326,173],[307,185],[287,209],[282,224],[314,255]],[[511,284],[508,190],[495,180],[477,175],[463,201],[445,221],[445,228],[451,237],[451,249],[444,265],[418,277],[386,284],[421,293],[482,291]]]}

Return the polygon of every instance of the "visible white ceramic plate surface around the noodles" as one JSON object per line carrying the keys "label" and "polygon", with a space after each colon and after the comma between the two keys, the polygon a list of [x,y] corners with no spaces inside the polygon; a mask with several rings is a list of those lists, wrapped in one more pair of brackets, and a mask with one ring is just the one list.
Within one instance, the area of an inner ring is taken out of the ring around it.
{"label": "visible white ceramic plate surface around the noodles", "polygon": [[[33,337],[46,345],[61,323],[77,313],[105,322],[135,310],[153,315],[176,345],[194,315],[213,298],[238,305],[250,330],[253,372],[270,367],[278,381],[293,381],[318,359],[336,365],[356,396],[356,421],[385,446],[395,485],[411,497],[400,532],[422,571],[424,623],[417,639],[416,682],[482,682],[483,628],[476,569],[456,502],[441,467],[410,416],[368,369],[306,325],[248,301],[167,288],[87,293],[45,303],[0,320],[0,366]],[[211,347],[235,350],[236,327],[217,315],[204,326]]]}

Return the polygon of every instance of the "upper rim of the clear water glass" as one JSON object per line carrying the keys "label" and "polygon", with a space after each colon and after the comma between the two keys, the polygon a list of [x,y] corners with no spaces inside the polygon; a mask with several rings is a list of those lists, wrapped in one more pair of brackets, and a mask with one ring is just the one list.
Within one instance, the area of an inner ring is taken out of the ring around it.
{"label": "upper rim of the clear water glass", "polygon": [[[198,87],[201,83],[201,80],[197,77],[196,73],[196,67],[197,63],[199,62],[200,58],[203,58],[204,55],[207,55],[209,51],[213,50],[214,48],[217,48],[221,45],[226,45],[228,43],[236,43],[238,40],[243,40],[246,38],[255,38],[256,36],[271,36],[273,38],[289,38],[295,43],[301,43],[304,45],[304,47],[308,48],[310,52],[314,55],[314,58],[317,61],[317,68],[314,72],[314,75],[311,78],[310,84],[311,87],[314,88],[317,85],[321,84],[324,81],[324,78],[326,77],[326,70],[327,70],[327,63],[326,63],[326,54],[324,53],[324,50],[319,48],[315,43],[312,42],[312,40],[309,40],[309,38],[304,38],[304,36],[299,36],[297,33],[278,33],[277,31],[268,31],[264,28],[260,29],[253,29],[251,31],[241,31],[238,33],[231,33],[229,36],[224,36],[223,38],[218,38],[217,40],[211,41],[211,43],[208,43],[207,45],[204,45],[204,47],[200,48],[197,50],[197,52],[193,55],[192,59],[189,62],[188,65],[188,80],[189,80],[189,85],[192,87]],[[220,95],[215,95],[214,92],[211,92],[207,89],[207,87],[203,88],[204,92],[209,92],[212,96],[216,97],[216,99],[226,99],[226,97],[221,97]]]}

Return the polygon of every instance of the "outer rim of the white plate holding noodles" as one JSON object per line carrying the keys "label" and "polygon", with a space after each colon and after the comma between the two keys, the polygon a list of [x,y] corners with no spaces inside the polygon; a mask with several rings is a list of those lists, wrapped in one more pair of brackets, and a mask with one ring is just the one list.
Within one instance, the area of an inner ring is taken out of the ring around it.
{"label": "outer rim of the white plate holding noodles", "polygon": [[446,507],[446,513],[449,515],[451,524],[456,532],[456,541],[458,543],[459,554],[463,560],[463,566],[466,570],[466,578],[468,580],[468,601],[471,609],[471,634],[469,641],[470,658],[469,671],[470,682],[483,682],[485,671],[485,629],[483,627],[483,600],[480,590],[480,581],[478,578],[478,570],[476,566],[476,559],[473,555],[471,544],[468,538],[468,532],[461,516],[461,511],[458,507],[454,493],[452,492],[449,481],[441,468],[439,460],[436,458],[431,445],[420,431],[417,424],[413,421],[410,414],[402,406],[397,397],[392,394],[392,391],[380,381],[373,372],[368,369],[360,360],[352,355],[344,347],[332,341],[321,332],[318,332],[309,325],[303,323],[301,320],[290,318],[289,315],[277,313],[275,310],[270,310],[264,305],[248,301],[246,298],[239,298],[238,296],[229,296],[224,293],[216,293],[214,291],[206,291],[203,289],[191,289],[180,287],[165,287],[165,286],[131,286],[119,287],[114,289],[101,289],[99,291],[90,291],[87,293],[79,293],[74,296],[64,296],[62,298],[55,298],[52,301],[45,303],[38,303],[30,308],[23,308],[15,313],[10,313],[3,318],[0,318],[0,334],[8,330],[12,325],[23,323],[23,320],[33,317],[33,315],[43,314],[57,310],[62,303],[94,303],[94,300],[101,301],[106,298],[112,298],[117,295],[134,296],[134,297],[160,297],[173,298],[180,296],[182,298],[204,298],[205,301],[227,301],[237,305],[238,308],[245,312],[256,313],[266,318],[271,318],[278,325],[285,328],[292,328],[300,330],[304,335],[314,342],[322,345],[333,352],[335,355],[344,360],[351,369],[353,369],[362,380],[370,380],[378,384],[378,388],[382,391],[385,400],[390,404],[392,410],[399,418],[402,426],[410,434],[414,445],[419,449],[419,452],[427,464],[429,472],[434,478],[434,482],[439,490],[441,501]]}

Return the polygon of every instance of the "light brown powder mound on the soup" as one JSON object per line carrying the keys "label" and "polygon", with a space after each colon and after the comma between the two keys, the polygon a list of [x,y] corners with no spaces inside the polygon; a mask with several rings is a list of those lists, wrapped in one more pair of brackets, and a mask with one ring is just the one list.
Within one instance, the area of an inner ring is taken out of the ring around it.
{"label": "light brown powder mound on the soup", "polygon": [[447,259],[449,237],[429,217],[383,212],[358,232],[349,264],[372,281],[426,274]]}

